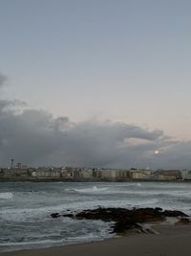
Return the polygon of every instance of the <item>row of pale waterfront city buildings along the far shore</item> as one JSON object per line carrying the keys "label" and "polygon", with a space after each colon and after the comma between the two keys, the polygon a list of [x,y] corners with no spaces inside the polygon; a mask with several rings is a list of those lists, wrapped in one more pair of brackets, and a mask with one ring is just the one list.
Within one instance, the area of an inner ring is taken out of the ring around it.
{"label": "row of pale waterfront city buildings along the far shore", "polygon": [[65,180],[191,180],[191,170],[139,170],[94,168],[1,169],[0,178],[59,178]]}

